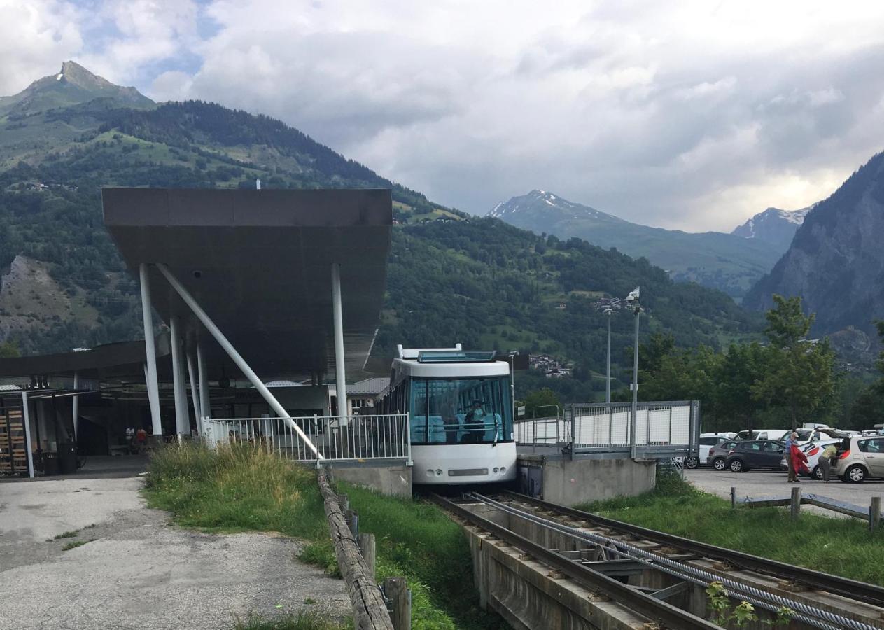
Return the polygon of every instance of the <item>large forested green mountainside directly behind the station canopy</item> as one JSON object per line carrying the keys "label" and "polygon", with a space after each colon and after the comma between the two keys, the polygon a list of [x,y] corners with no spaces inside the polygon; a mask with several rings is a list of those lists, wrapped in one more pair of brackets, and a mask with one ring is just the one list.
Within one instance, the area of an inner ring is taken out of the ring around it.
{"label": "large forested green mountainside directly behind the station canopy", "polygon": [[[721,346],[760,329],[760,317],[724,293],[674,283],[647,261],[580,239],[468,219],[265,116],[206,102],[133,108],[99,96],[0,116],[0,139],[10,125],[50,139],[0,162],[0,340],[26,353],[141,337],[138,288],[104,229],[101,186],[253,187],[255,178],[263,188],[392,188],[397,224],[377,357],[399,343],[457,341],[553,353],[579,375],[556,386],[583,388],[574,396],[585,398],[604,388],[599,297],[641,285],[643,336],[668,331],[680,345]],[[631,325],[614,317],[615,376]]]}

